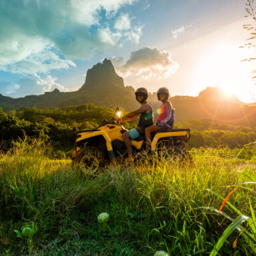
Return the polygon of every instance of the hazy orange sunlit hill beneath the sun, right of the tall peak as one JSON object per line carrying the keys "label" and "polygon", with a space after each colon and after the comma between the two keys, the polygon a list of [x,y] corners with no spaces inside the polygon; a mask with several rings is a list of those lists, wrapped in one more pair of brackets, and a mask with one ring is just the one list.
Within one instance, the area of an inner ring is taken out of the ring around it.
{"label": "hazy orange sunlit hill beneath the sun, right of the tall peak", "polygon": [[[153,108],[160,106],[157,93],[149,95]],[[256,127],[256,105],[247,105],[235,95],[226,95],[219,87],[207,87],[197,97],[175,96],[170,99],[175,108],[175,121],[211,119],[230,125]]]}

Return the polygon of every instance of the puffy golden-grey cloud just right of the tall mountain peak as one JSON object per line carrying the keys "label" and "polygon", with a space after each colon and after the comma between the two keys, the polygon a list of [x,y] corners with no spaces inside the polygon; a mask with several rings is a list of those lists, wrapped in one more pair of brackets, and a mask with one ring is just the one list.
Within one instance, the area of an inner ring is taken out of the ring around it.
{"label": "puffy golden-grey cloud just right of the tall mountain peak", "polygon": [[139,79],[170,77],[179,65],[171,59],[171,53],[151,47],[143,47],[131,53],[130,59],[121,65],[121,57],[112,57],[111,61],[117,71],[124,77],[135,76]]}

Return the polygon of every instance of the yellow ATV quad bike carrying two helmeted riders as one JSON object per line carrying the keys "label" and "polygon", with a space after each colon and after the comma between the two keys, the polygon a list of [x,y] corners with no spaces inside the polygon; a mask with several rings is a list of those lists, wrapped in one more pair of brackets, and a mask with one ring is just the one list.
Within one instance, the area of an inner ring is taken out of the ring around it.
{"label": "yellow ATV quad bike carrying two helmeted riders", "polygon": [[[73,163],[83,163],[87,168],[98,169],[109,161],[127,156],[122,138],[122,133],[127,129],[117,123],[120,115],[121,113],[117,112],[111,122],[104,119],[97,129],[79,131],[75,141],[75,152],[72,154]],[[174,109],[172,109],[173,119]],[[160,157],[173,153],[191,161],[191,155],[185,150],[185,143],[189,138],[190,129],[161,129],[152,134],[151,152],[161,152]],[[134,155],[138,155],[139,151],[145,149],[145,135],[131,140],[131,145]],[[163,150],[167,154],[163,154]]]}

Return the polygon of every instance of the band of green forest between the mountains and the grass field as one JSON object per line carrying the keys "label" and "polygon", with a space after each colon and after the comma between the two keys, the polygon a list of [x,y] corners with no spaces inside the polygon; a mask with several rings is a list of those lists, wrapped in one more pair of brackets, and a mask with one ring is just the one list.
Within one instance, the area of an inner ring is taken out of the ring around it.
{"label": "band of green forest between the mountains and the grass field", "polygon": [[[111,120],[114,110],[93,104],[54,109],[24,107],[4,112],[0,109],[1,149],[9,149],[17,139],[41,138],[54,149],[73,149],[78,131],[96,128],[103,119]],[[155,113],[155,119],[157,114]],[[123,123],[130,129],[136,121]],[[227,125],[210,119],[177,122],[173,128],[191,128],[187,149],[199,147],[241,148],[256,141],[256,128]]]}

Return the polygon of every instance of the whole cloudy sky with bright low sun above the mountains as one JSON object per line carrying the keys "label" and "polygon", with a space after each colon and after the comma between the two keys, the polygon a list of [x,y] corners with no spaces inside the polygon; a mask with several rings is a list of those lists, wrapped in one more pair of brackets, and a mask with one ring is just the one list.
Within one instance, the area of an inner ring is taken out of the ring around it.
{"label": "whole cloudy sky with bright low sun above the mountains", "polygon": [[[246,0],[0,0],[0,93],[76,91],[107,57],[125,86],[256,101]],[[253,41],[251,42],[253,43]]]}

